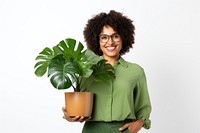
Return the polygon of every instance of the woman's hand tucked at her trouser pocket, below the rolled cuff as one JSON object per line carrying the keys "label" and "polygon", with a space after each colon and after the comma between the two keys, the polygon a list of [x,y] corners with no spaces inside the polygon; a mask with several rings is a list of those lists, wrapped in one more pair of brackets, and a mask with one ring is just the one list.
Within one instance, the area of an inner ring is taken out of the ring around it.
{"label": "woman's hand tucked at her trouser pocket, below the rolled cuff", "polygon": [[138,119],[137,121],[126,123],[124,126],[119,128],[119,131],[123,131],[128,128],[130,133],[137,133],[141,130],[144,122],[142,119]]}

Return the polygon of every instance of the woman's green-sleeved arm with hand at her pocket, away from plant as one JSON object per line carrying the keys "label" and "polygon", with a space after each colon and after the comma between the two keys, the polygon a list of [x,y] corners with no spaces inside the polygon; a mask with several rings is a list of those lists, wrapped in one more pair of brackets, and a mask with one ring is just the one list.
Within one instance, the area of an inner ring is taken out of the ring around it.
{"label": "woman's green-sleeved arm with hand at her pocket, away from plant", "polygon": [[151,103],[144,71],[142,71],[133,93],[136,121],[125,124],[119,128],[119,130],[123,131],[128,129],[130,133],[137,133],[142,127],[149,129],[151,124],[151,121],[149,120]]}

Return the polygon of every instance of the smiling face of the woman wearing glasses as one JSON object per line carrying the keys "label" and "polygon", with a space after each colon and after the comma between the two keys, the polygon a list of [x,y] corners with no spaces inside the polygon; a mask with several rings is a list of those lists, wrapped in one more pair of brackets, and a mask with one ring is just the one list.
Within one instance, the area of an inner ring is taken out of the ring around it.
{"label": "smiling face of the woman wearing glasses", "polygon": [[113,30],[110,26],[104,26],[99,35],[100,49],[103,52],[103,57],[108,58],[119,58],[119,52],[122,48],[122,39],[120,35]]}

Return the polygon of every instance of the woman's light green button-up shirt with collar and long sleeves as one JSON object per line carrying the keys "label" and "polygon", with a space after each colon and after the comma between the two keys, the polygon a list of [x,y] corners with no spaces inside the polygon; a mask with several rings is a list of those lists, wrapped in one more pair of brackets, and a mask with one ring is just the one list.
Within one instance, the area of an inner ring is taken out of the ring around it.
{"label": "woman's light green button-up shirt with collar and long sleeves", "polygon": [[84,90],[95,93],[92,121],[144,120],[150,128],[150,98],[144,70],[137,64],[120,58],[114,65],[116,78],[106,82],[91,82]]}

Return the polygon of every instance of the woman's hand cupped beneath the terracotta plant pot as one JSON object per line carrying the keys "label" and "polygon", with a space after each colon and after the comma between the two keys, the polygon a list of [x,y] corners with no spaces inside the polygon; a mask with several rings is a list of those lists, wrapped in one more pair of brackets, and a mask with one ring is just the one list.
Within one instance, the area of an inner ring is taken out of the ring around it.
{"label": "woman's hand cupped beneath the terracotta plant pot", "polygon": [[84,116],[70,117],[64,107],[62,108],[62,110],[63,110],[63,113],[64,113],[63,118],[66,119],[69,122],[84,122],[84,121],[87,121],[91,118],[91,117],[84,117]]}

